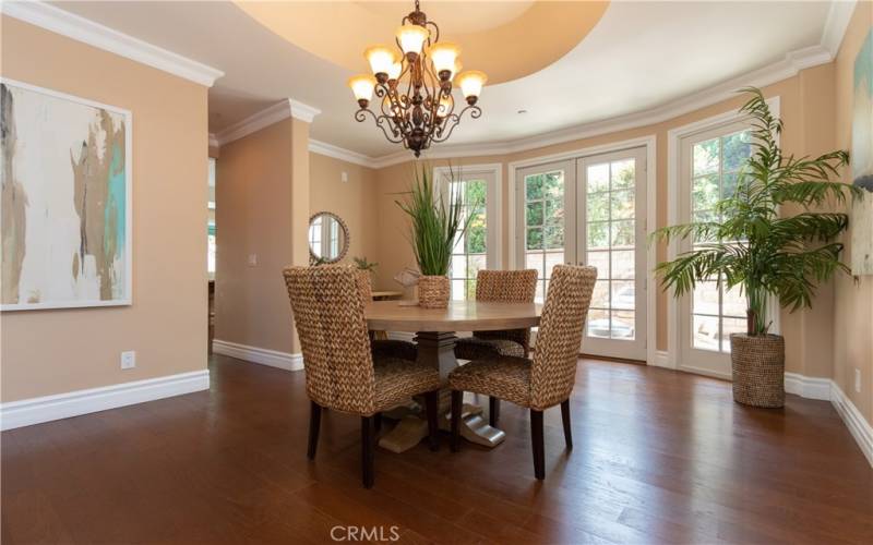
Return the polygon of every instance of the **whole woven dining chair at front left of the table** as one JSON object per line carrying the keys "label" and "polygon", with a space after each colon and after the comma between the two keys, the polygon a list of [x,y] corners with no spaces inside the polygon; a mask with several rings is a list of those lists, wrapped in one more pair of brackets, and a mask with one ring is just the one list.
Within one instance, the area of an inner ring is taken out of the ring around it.
{"label": "whole woven dining chair at front left of the table", "polygon": [[374,365],[357,271],[348,266],[283,270],[303,352],[310,403],[310,460],[315,458],[322,407],[361,417],[363,486],[373,485],[373,416],[412,396],[424,395],[430,447],[438,448],[440,374],[394,358]]}

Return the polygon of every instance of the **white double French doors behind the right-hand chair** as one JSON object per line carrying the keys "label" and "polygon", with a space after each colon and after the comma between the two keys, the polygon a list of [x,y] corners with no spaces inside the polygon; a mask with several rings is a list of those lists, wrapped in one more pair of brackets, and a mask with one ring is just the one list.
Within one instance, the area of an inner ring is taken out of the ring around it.
{"label": "white double French doors behind the right-hand chair", "polygon": [[646,359],[645,148],[519,169],[516,266],[539,271],[545,301],[554,265],[597,267],[581,351]]}

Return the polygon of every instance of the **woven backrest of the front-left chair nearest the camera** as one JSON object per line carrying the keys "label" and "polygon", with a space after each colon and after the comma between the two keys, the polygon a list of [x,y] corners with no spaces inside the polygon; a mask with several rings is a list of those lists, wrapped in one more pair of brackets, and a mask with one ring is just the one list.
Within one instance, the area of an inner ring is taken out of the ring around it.
{"label": "woven backrest of the front-left chair nearest the camera", "polygon": [[338,411],[372,414],[373,360],[358,270],[322,265],[288,267],[283,275],[310,399]]}

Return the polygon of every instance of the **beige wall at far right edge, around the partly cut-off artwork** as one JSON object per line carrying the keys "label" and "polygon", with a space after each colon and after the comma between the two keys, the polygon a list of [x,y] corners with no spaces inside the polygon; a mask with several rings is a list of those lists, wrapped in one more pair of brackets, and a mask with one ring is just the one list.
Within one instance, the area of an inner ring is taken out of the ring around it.
{"label": "beige wall at far right edge, around the partly cut-off artwork", "polygon": [[[854,59],[871,25],[873,3],[858,2],[835,62],[836,142],[844,149],[851,148]],[[852,178],[849,171],[844,181],[851,182]],[[866,198],[873,195],[868,193]],[[844,237],[844,242],[849,245],[851,237]],[[850,263],[851,247],[848,252],[846,261]],[[873,276],[858,277],[858,283],[845,276],[837,280],[832,327],[834,380],[873,424]],[[861,371],[860,392],[854,391],[854,370]]]}

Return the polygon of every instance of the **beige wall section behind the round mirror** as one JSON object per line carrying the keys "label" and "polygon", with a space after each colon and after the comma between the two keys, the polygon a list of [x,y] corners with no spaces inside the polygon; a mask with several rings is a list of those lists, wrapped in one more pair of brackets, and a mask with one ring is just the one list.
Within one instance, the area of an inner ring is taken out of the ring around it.
{"label": "beige wall section behind the round mirror", "polygon": [[[350,243],[343,263],[352,257],[378,262],[379,218],[375,171],[340,159],[310,153],[310,215],[332,211],[348,226]],[[343,182],[343,173],[348,177]]]}

